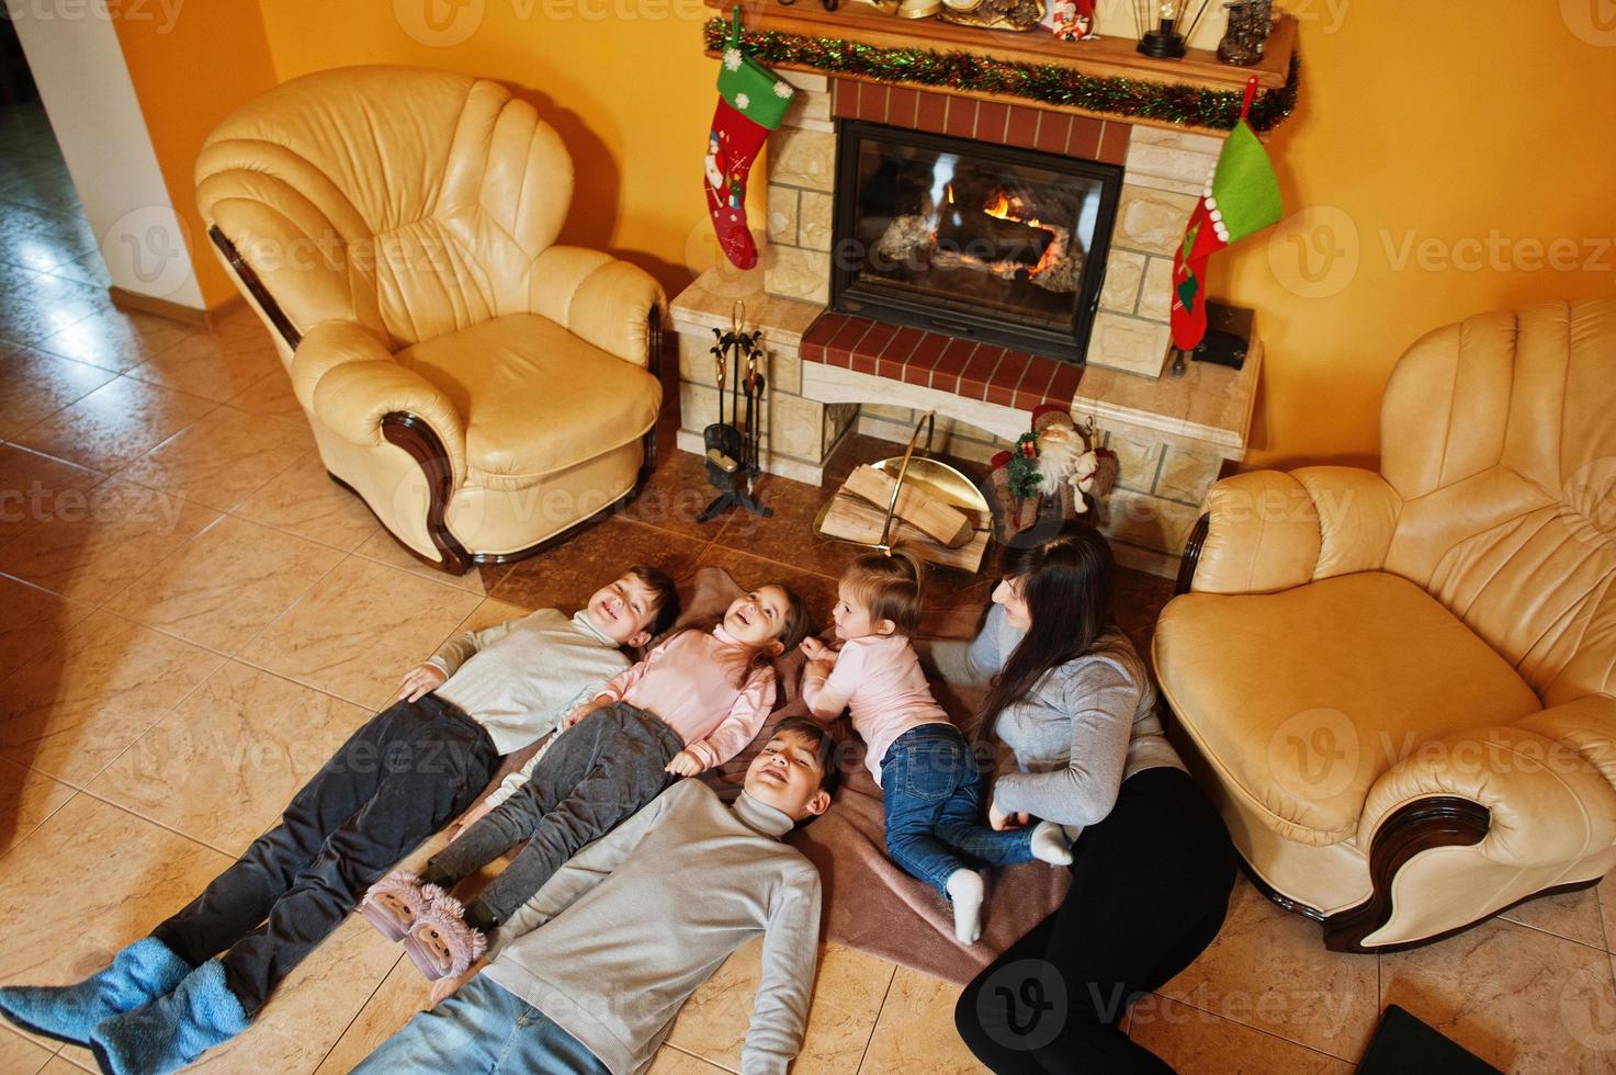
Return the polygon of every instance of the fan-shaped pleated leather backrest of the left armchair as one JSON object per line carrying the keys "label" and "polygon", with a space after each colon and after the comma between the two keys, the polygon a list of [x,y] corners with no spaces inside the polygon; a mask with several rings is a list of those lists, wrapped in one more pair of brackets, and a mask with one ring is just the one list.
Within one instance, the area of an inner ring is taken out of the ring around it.
{"label": "fan-shaped pleated leather backrest of the left armchair", "polygon": [[351,320],[389,348],[525,312],[572,200],[532,105],[425,68],[283,82],[213,129],[196,178],[202,218],[299,331]]}

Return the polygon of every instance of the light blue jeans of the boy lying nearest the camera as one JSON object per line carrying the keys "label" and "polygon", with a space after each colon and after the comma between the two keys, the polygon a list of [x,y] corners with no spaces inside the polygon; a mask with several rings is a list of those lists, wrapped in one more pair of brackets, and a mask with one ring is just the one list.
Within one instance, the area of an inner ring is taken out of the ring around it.
{"label": "light blue jeans of the boy lying nearest the camera", "polygon": [[606,1065],[537,1007],[478,975],[438,1007],[404,1023],[354,1072],[606,1075]]}

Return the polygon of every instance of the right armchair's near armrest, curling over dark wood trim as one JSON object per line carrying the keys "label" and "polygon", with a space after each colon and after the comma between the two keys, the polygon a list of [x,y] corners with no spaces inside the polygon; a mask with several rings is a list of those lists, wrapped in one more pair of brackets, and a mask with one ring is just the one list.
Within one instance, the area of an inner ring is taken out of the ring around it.
{"label": "right armchair's near armrest, curling over dark wood trim", "polygon": [[1480,839],[1432,845],[1472,844],[1506,866],[1571,863],[1616,844],[1611,782],[1571,744],[1526,727],[1480,727],[1417,747],[1369,789],[1359,847],[1378,854],[1398,837],[1393,815],[1435,799],[1475,803],[1488,821]]}

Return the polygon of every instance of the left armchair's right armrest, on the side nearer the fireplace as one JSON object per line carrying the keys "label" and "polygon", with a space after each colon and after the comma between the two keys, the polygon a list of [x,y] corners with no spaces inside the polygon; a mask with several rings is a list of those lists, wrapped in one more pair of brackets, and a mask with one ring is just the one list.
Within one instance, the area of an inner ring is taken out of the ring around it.
{"label": "left armchair's right armrest, on the side nearer the fireplace", "polygon": [[666,306],[650,273],[600,251],[553,246],[533,262],[530,310],[642,369],[656,357],[651,314],[661,318]]}

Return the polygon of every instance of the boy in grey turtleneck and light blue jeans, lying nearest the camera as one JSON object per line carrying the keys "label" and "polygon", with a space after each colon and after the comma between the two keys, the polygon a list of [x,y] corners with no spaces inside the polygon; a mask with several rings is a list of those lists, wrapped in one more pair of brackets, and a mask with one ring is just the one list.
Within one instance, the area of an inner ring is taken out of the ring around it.
{"label": "boy in grey turtleneck and light blue jeans, lying nearest the camera", "polygon": [[663,792],[494,933],[486,972],[451,983],[357,1070],[642,1072],[685,999],[761,933],[740,1065],[784,1075],[808,1022],[819,875],[781,837],[831,805],[832,755],[824,729],[787,719],[734,807],[700,781]]}

